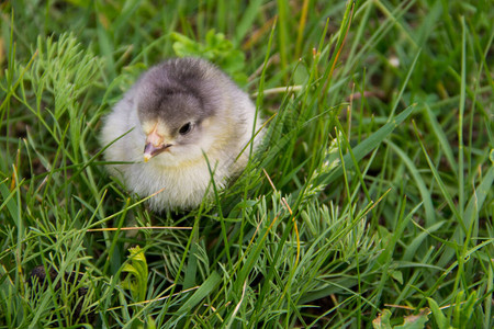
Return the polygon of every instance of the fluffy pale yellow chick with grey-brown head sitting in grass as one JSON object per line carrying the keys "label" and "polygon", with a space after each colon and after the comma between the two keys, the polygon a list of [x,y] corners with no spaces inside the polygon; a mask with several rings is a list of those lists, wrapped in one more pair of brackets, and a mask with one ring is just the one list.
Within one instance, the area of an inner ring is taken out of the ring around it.
{"label": "fluffy pale yellow chick with grey-brown head sitting in grass", "polygon": [[[255,126],[256,125],[256,126]],[[247,164],[256,107],[214,65],[199,58],[166,60],[146,71],[104,118],[104,157],[112,174],[154,211],[190,209]],[[260,136],[260,135],[258,135]],[[112,144],[113,143],[113,144]],[[211,174],[211,171],[213,174]]]}

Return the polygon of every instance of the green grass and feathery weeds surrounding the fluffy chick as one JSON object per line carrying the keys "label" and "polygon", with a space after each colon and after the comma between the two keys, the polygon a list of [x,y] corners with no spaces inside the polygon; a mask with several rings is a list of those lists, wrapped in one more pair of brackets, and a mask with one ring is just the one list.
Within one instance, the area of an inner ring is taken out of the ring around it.
{"label": "green grass and feathery weeds surrounding the fluffy chick", "polygon": [[[0,8],[1,328],[494,327],[489,1]],[[269,123],[212,204],[154,214],[100,121],[183,52]]]}

